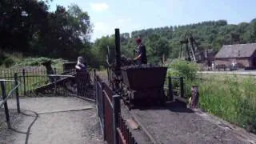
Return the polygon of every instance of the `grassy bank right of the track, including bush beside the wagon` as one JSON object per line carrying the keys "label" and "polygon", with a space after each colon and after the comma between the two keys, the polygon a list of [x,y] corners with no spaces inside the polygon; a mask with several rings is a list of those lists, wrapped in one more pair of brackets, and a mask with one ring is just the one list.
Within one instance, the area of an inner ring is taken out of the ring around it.
{"label": "grassy bank right of the track, including bush beside the wagon", "polygon": [[199,86],[199,106],[228,122],[256,134],[256,77],[234,74],[196,74],[199,66],[186,61],[170,64],[168,76],[184,78],[185,95]]}

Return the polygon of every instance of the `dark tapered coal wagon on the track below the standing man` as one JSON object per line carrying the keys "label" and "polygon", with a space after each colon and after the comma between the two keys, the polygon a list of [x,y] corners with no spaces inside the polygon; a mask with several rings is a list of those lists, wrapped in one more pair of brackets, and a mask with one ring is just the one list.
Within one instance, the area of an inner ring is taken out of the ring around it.
{"label": "dark tapered coal wagon on the track below the standing man", "polygon": [[164,82],[167,67],[124,66],[122,71],[122,98],[132,108],[165,102]]}

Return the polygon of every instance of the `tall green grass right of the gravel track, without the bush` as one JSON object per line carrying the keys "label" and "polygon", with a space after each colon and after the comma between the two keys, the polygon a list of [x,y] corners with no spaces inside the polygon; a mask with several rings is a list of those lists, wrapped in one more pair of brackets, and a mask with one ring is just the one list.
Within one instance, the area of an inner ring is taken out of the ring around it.
{"label": "tall green grass right of the gravel track, without the bush", "polygon": [[256,78],[236,75],[200,75],[199,105],[210,114],[256,132]]}

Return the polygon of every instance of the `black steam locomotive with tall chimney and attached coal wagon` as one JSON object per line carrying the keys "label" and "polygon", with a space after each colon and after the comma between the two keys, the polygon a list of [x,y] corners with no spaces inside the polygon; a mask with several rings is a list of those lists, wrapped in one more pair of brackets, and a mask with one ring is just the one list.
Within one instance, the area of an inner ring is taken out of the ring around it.
{"label": "black steam locomotive with tall chimney and attached coal wagon", "polygon": [[121,95],[130,109],[142,105],[163,104],[166,98],[164,82],[167,67],[136,65],[130,58],[121,56],[119,42],[116,31],[116,61],[110,64],[108,58],[106,59],[108,80],[113,92]]}

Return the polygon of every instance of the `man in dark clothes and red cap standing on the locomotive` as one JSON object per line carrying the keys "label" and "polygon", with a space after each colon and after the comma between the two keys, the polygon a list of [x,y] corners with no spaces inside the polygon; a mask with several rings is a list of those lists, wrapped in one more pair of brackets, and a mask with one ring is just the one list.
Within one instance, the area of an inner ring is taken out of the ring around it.
{"label": "man in dark clothes and red cap standing on the locomotive", "polygon": [[147,58],[146,58],[146,46],[143,45],[142,39],[137,38],[136,43],[138,45],[138,56],[134,58],[134,61],[138,60],[138,63],[141,64],[147,64]]}

